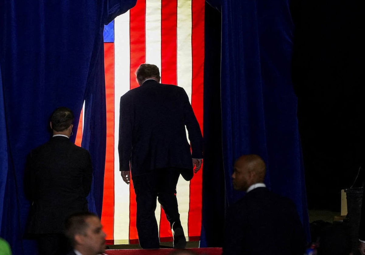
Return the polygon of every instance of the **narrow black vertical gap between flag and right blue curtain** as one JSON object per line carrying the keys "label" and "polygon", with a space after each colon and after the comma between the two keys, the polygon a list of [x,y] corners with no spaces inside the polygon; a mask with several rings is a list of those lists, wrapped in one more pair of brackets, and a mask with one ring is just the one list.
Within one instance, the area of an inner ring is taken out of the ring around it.
{"label": "narrow black vertical gap between flag and right blue curtain", "polygon": [[[221,14],[205,4],[204,58],[204,170],[202,219],[206,242],[203,247],[222,247],[225,188],[220,107]],[[224,100],[224,99],[222,99]],[[217,182],[218,181],[218,182]],[[202,234],[202,236],[204,236]]]}

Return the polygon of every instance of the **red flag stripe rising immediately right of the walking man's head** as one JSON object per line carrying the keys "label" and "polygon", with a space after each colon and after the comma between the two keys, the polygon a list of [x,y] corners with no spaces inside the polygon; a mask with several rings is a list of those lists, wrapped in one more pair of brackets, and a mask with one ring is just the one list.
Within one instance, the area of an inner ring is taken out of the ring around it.
{"label": "red flag stripe rising immediately right of the walking man's head", "polygon": [[[177,84],[177,0],[162,0],[161,5],[161,83]],[[160,237],[170,237],[170,223],[161,207]],[[170,240],[171,239],[171,240]],[[166,240],[164,242],[167,242]]]}

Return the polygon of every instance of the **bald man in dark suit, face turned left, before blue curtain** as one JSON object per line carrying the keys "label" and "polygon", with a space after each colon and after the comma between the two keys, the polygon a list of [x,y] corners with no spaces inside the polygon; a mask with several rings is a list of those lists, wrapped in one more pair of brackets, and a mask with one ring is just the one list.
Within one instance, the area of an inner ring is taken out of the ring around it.
{"label": "bald man in dark suit, face turned left, before blue curtain", "polygon": [[234,164],[234,189],[246,195],[228,208],[223,254],[303,255],[304,232],[294,203],[263,183],[265,163],[244,155]]}

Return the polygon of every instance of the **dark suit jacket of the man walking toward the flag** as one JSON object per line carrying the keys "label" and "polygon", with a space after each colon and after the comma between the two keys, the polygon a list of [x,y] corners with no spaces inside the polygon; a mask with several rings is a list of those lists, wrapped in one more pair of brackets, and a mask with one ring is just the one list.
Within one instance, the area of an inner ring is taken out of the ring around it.
{"label": "dark suit jacket of the man walking toward the flag", "polygon": [[132,177],[158,168],[192,169],[192,158],[203,158],[203,138],[183,88],[148,80],[120,98],[121,171],[129,171],[130,162]]}

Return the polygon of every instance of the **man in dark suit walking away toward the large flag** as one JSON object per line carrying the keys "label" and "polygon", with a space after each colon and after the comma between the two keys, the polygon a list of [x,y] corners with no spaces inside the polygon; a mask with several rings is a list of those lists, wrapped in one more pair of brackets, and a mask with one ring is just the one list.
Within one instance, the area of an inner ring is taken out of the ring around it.
{"label": "man in dark suit walking away toward the large flag", "polygon": [[124,182],[129,184],[132,178],[134,185],[139,244],[142,248],[159,248],[154,215],[158,197],[173,232],[174,248],[184,248],[176,184],[180,173],[190,180],[193,167],[195,173],[201,167],[203,138],[199,123],[185,90],[159,83],[157,66],[141,64],[136,76],[140,86],[120,98],[119,161]]}

